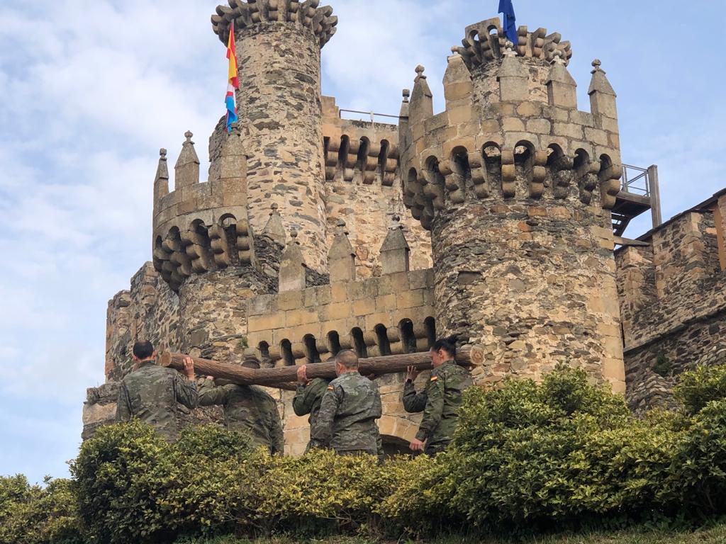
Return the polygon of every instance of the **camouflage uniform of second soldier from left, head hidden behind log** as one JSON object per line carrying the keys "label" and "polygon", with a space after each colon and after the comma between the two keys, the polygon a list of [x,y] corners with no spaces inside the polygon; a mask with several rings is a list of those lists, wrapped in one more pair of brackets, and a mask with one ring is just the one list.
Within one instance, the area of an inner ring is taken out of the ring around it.
{"label": "camouflage uniform of second soldier from left, head hidden behind log", "polygon": [[261,388],[237,384],[216,387],[211,379],[205,379],[199,388],[199,405],[224,406],[227,430],[248,434],[254,445],[268,448],[273,455],[282,455],[285,450],[280,412]]}

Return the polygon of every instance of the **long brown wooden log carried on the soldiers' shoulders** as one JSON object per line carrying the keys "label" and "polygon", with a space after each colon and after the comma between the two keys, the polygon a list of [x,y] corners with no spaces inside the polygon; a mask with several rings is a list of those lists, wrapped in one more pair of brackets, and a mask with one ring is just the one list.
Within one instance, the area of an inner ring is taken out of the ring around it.
{"label": "long brown wooden log carried on the soldiers' shoulders", "polygon": [[[484,362],[484,351],[480,347],[462,347],[457,353],[457,363],[469,366],[478,366]],[[200,376],[213,376],[226,379],[235,384],[266,385],[280,387],[298,379],[297,366],[280,366],[277,368],[245,368],[244,366],[220,363],[216,360],[192,357],[195,371]],[[181,353],[163,353],[162,366],[184,369],[184,355]],[[364,376],[375,374],[395,374],[404,372],[408,366],[415,366],[418,370],[430,370],[431,355],[423,353],[404,353],[402,355],[386,355],[384,357],[369,357],[359,359],[358,370]],[[311,363],[307,366],[306,374],[309,379],[335,378],[335,362]]]}

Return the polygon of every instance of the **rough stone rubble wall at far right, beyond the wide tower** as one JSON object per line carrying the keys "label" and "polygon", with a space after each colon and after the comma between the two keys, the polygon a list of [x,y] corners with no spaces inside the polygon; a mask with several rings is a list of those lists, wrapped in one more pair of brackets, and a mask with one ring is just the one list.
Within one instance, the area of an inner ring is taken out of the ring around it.
{"label": "rough stone rubble wall at far right, beyond the wide tower", "polygon": [[616,252],[627,399],[639,413],[672,405],[683,371],[726,363],[719,204],[677,215],[650,233],[648,246]]}

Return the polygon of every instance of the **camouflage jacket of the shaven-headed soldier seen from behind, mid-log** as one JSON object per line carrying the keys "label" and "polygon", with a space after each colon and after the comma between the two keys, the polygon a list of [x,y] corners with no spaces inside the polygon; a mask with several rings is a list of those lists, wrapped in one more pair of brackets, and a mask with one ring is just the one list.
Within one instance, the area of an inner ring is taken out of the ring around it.
{"label": "camouflage jacket of the shaven-headed soldier seen from behind, mid-log", "polygon": [[346,372],[327,386],[311,441],[338,453],[352,450],[378,455],[381,416],[378,385],[357,372]]}

